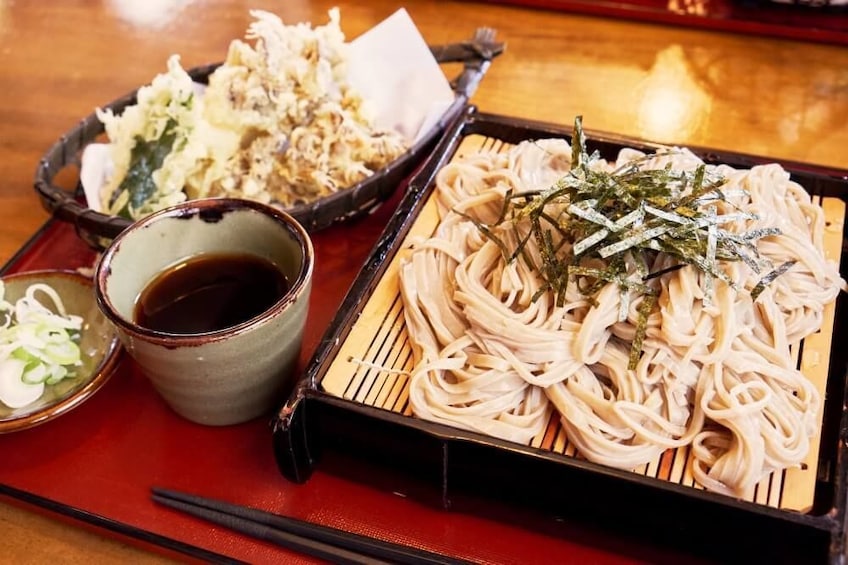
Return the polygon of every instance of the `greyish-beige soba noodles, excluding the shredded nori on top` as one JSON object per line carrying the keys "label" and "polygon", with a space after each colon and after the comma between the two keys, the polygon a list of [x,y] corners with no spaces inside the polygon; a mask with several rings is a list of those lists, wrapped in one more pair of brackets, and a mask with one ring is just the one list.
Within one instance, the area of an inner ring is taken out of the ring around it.
{"label": "greyish-beige soba noodles, excluding the shredded nori on top", "polygon": [[[647,159],[645,168],[702,165],[684,149],[653,156],[627,149],[616,163],[595,166],[613,170],[634,158]],[[716,212],[755,215],[722,229],[777,227],[779,235],[757,241],[760,257],[796,263],[756,300],[750,291],[762,275],[744,261],[719,263],[736,289],[718,278],[708,285],[692,265],[650,280],[658,297],[643,319],[638,363],[628,368],[643,294],[607,283],[590,298],[577,280],[558,306],[539,273],[507,260],[479,227],[515,249],[520,230],[498,224],[504,198],[544,189],[570,166],[569,144],[549,139],[455,160],[438,174],[440,224],[415,243],[400,273],[415,352],[414,413],[526,444],[555,410],[590,461],[633,469],[690,446],[695,479],[734,496],[747,496],[773,470],[799,465],[821,398],[789,347],[817,330],[824,306],[845,285],[822,253],[821,208],[778,165],[709,167],[726,179],[728,197],[711,204]],[[533,238],[525,252],[540,263]],[[652,272],[674,264],[664,253],[652,261]]]}

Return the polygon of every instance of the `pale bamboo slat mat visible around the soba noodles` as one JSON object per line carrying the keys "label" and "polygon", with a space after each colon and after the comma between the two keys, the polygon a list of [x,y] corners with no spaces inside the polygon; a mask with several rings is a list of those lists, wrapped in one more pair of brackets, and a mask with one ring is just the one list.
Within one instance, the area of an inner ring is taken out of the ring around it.
{"label": "pale bamboo slat mat visible around the soba noodles", "polygon": [[[508,147],[497,139],[471,135],[462,141],[454,158],[477,151],[503,151]],[[831,260],[839,260],[845,203],[838,198],[819,199],[817,203],[822,205],[827,221],[826,255]],[[431,235],[438,221],[435,200],[430,197],[324,375],[321,386],[325,392],[413,417],[408,402],[408,373],[413,369],[413,355],[404,325],[398,268],[410,253],[408,242]],[[834,311],[835,305],[829,305],[821,329],[792,348],[796,366],[815,383],[822,398],[825,398]],[[811,449],[804,464],[800,468],[772,473],[763,479],[754,489],[750,502],[799,512],[811,509],[818,471],[821,418],[822,414],[819,414],[816,436],[811,438]],[[556,411],[553,411],[547,427],[530,445],[565,456],[579,457],[566,437]],[[667,450],[656,460],[633,472],[702,489],[692,476],[689,451],[688,447]]]}

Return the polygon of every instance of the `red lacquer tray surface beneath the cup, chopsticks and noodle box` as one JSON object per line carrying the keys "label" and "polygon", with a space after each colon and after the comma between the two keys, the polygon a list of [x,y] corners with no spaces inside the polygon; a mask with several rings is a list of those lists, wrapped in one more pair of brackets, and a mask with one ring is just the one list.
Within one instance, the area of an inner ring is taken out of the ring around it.
{"label": "red lacquer tray surface beneath the cup, chopsticks and noodle box", "polygon": [[[315,286],[302,366],[401,192],[371,216],[313,235]],[[95,258],[70,224],[49,221],[4,271],[86,267]],[[449,512],[321,470],[305,484],[291,483],[274,461],[269,421],[224,428],[187,422],[170,411],[124,355],[109,382],[81,406],[42,426],[0,435],[0,493],[6,501],[204,562],[309,560],[159,506],[150,499],[151,487],[254,506],[477,562],[691,562],[691,556],[667,548],[613,537],[603,524],[549,521],[540,531],[509,507],[491,519]]]}

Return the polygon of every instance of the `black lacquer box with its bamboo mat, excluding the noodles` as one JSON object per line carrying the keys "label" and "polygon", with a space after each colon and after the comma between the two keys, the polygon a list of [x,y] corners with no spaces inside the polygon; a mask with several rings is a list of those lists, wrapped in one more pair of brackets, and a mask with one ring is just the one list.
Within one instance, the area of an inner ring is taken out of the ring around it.
{"label": "black lacquer box with its bamboo mat, excluding the noodles", "polygon": [[[686,453],[665,453],[635,471],[576,456],[559,424],[530,445],[435,424],[412,416],[410,367],[397,260],[407,237],[432,231],[428,199],[436,173],[461,151],[498,150],[527,139],[565,137],[553,124],[489,115],[469,107],[409,182],[391,223],[350,288],[296,390],[273,422],[281,473],[304,482],[318,466],[449,511],[483,513],[550,531],[592,528],[647,544],[682,548],[722,562],[833,562],[845,555],[845,380],[848,296],[840,294],[819,335],[800,347],[798,367],[812,367],[824,400],[812,460],[773,473],[750,499],[708,492],[688,474]],[[659,145],[587,132],[587,148],[613,159],[623,147]],[[690,149],[707,163],[737,168],[774,162]],[[826,250],[848,273],[848,172],[781,162],[820,203]],[[815,355],[815,363],[810,362]],[[366,364],[350,364],[351,357]],[[370,365],[369,365],[370,363]]]}

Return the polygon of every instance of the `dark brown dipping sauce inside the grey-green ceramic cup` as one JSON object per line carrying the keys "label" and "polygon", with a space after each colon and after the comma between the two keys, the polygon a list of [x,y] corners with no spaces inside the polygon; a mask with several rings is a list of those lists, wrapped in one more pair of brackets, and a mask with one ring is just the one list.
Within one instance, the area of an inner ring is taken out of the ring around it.
{"label": "dark brown dipping sauce inside the grey-green ceramic cup", "polygon": [[135,321],[170,334],[214,332],[258,316],[288,290],[285,275],[262,257],[197,255],[147,284],[136,302]]}

